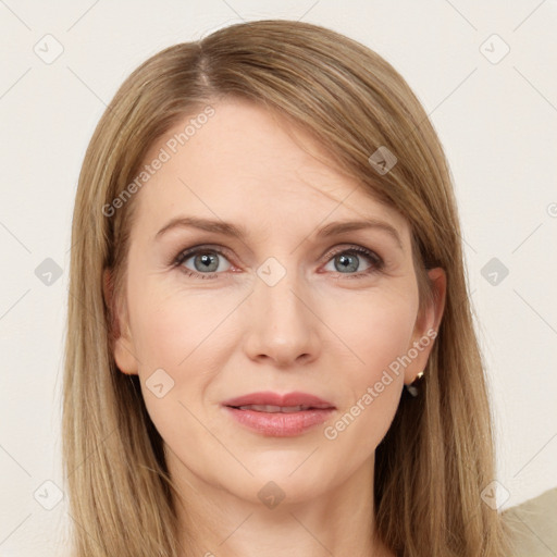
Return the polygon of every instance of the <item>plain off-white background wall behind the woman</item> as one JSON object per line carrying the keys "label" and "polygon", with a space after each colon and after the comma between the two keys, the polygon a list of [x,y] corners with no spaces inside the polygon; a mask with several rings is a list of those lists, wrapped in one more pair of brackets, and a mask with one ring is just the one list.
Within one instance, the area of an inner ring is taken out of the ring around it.
{"label": "plain off-white background wall behind the woman", "polygon": [[[62,555],[71,521],[66,499],[57,505],[62,350],[72,210],[95,125],[159,50],[270,17],[363,42],[424,104],[459,202],[497,502],[507,508],[557,485],[555,1],[0,0],[2,557]],[[60,277],[46,278],[49,258]]]}

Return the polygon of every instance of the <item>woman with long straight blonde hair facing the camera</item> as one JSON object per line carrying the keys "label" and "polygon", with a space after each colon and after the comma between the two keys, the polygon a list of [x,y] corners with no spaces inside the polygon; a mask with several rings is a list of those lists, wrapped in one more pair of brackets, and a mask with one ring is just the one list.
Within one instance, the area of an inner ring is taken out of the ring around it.
{"label": "woman with long straight blonde hair facing the camera", "polygon": [[76,557],[510,555],[449,171],[376,53],[259,21],[153,55],[72,243]]}

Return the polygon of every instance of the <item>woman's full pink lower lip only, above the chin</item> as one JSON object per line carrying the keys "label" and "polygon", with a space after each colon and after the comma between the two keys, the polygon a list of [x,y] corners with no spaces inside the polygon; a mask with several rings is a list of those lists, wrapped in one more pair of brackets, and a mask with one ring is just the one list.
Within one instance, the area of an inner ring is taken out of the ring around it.
{"label": "woman's full pink lower lip only, above the chin", "polygon": [[300,410],[299,412],[258,412],[224,407],[243,425],[272,437],[293,437],[301,435],[311,428],[323,423],[333,413],[334,408]]}

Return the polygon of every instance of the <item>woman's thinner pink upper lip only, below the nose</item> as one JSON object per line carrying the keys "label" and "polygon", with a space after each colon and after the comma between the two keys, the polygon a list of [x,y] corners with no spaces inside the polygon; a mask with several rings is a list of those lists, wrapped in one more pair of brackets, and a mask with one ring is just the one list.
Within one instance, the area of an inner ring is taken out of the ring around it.
{"label": "woman's thinner pink upper lip only, below the nose", "polygon": [[[294,412],[300,410],[335,408],[322,398],[307,393],[251,393],[222,403],[223,406],[260,412]],[[249,408],[248,408],[249,407]]]}

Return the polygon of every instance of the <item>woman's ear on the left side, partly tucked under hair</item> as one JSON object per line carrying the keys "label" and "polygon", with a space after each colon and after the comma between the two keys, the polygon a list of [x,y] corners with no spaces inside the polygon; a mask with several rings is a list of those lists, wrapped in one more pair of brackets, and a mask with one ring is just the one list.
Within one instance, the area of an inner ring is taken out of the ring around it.
{"label": "woman's ear on the left side, partly tucked under hair", "polygon": [[114,285],[110,269],[104,269],[102,278],[104,300],[110,310],[109,335],[114,361],[123,373],[137,375],[137,359],[134,356],[135,348],[125,300],[114,297]]}

